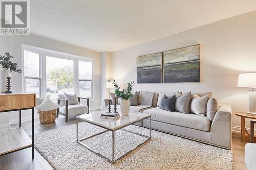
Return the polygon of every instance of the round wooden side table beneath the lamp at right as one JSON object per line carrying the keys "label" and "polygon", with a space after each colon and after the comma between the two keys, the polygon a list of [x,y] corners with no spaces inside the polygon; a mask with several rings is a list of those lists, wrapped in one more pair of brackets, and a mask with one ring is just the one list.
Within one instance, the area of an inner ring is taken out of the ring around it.
{"label": "round wooden side table beneath the lamp at right", "polygon": [[[241,141],[249,142],[250,141],[250,133],[245,129],[245,118],[256,119],[256,115],[249,115],[246,112],[237,112],[237,116],[241,117]],[[254,136],[254,141],[256,137]]]}

